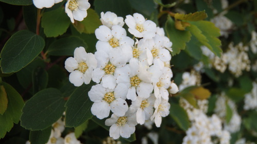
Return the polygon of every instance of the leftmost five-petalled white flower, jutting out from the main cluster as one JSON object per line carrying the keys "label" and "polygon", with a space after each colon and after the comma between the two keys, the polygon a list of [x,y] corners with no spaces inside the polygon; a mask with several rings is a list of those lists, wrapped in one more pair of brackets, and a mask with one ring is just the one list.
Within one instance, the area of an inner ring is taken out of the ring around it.
{"label": "leftmost five-petalled white flower, jutting out from the main cluster", "polygon": [[74,57],[65,61],[65,69],[70,72],[69,81],[79,87],[83,83],[89,84],[93,69],[97,67],[97,60],[92,53],[86,53],[85,48],[79,47],[74,51]]}

